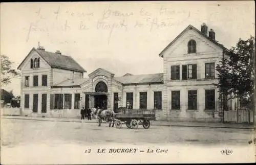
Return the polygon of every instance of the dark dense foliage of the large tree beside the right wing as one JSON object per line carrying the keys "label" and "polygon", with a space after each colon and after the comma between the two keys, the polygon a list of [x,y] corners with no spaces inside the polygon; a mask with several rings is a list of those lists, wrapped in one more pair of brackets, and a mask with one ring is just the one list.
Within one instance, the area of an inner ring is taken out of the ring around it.
{"label": "dark dense foliage of the large tree beside the right wing", "polygon": [[233,94],[230,99],[239,98],[246,103],[254,99],[253,53],[255,39],[239,39],[236,46],[230,49],[228,57],[222,58],[217,65],[219,82],[216,84],[222,96]]}

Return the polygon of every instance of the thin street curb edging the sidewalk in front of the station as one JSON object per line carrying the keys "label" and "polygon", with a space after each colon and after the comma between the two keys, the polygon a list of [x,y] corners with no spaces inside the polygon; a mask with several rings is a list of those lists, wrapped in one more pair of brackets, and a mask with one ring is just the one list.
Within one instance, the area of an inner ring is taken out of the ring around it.
{"label": "thin street curb edging the sidewalk in front of the station", "polygon": [[[3,119],[18,119],[18,120],[33,120],[33,121],[47,121],[47,122],[73,122],[73,123],[82,123],[81,121],[58,121],[58,120],[41,120],[41,119],[22,119],[14,117],[1,117]],[[97,123],[97,122],[83,122],[83,123]],[[167,126],[167,127],[198,127],[198,128],[229,128],[229,129],[247,129],[255,130],[255,128],[246,128],[246,127],[222,127],[222,126],[196,126],[196,125],[172,125],[172,124],[151,124],[152,126]]]}

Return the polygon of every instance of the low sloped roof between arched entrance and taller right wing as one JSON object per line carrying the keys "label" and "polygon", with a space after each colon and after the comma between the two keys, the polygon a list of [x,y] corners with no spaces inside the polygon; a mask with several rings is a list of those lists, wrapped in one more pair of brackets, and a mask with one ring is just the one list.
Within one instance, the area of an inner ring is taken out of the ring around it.
{"label": "low sloped roof between arched entrance and taller right wing", "polygon": [[122,84],[162,83],[163,74],[131,75],[114,79]]}

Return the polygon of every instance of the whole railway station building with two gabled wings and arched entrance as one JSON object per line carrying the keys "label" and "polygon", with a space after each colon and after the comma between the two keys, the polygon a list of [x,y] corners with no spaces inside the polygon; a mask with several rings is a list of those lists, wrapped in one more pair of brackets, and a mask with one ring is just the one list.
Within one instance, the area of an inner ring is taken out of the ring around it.
{"label": "whole railway station building with two gabled wings and arched entrance", "polygon": [[160,52],[163,73],[148,75],[86,70],[60,51],[33,48],[22,71],[23,115],[78,117],[82,107],[156,109],[156,120],[219,121],[216,66],[228,49],[216,41],[214,30],[189,25]]}

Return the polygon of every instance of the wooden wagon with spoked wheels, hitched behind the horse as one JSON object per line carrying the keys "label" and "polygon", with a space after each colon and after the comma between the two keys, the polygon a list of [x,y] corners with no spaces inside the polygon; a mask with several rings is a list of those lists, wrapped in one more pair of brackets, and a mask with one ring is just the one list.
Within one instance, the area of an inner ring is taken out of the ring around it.
{"label": "wooden wagon with spoked wheels, hitched behind the horse", "polygon": [[151,120],[156,120],[155,109],[119,109],[115,114],[116,128],[121,128],[124,122],[127,128],[136,129],[138,125],[142,125],[148,129]]}

